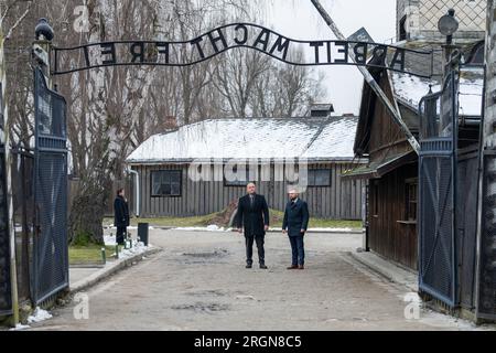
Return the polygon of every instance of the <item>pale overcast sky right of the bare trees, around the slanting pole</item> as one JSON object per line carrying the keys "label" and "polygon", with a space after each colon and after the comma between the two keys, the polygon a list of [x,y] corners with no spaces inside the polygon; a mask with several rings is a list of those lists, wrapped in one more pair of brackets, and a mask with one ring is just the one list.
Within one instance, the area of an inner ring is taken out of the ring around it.
{"label": "pale overcast sky right of the bare trees, around the slanting pole", "polygon": [[[395,0],[321,0],[345,36],[365,26],[375,42],[396,35]],[[335,39],[310,0],[272,0],[267,19],[260,22],[276,32],[300,40]],[[322,66],[326,99],[336,114],[358,114],[363,76],[353,66]],[[326,103],[326,101],[324,101]]]}

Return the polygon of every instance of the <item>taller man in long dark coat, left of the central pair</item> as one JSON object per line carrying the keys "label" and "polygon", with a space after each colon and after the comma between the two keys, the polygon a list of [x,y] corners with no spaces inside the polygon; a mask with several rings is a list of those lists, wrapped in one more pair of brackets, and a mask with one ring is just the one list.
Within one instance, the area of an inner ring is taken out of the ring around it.
{"label": "taller man in long dark coat, left of the central pair", "polygon": [[269,207],[266,197],[257,194],[254,183],[247,185],[247,195],[239,199],[236,223],[238,232],[245,228],[246,268],[251,268],[254,260],[254,240],[257,243],[258,260],[261,269],[267,269],[263,242],[269,229]]}

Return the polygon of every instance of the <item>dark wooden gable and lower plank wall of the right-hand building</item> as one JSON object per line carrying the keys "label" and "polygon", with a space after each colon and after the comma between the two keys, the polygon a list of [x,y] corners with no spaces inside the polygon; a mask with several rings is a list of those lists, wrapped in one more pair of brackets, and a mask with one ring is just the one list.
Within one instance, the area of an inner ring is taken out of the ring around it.
{"label": "dark wooden gable and lower plank wall of the right-hand building", "polygon": [[[387,75],[379,78],[380,86],[393,99]],[[373,93],[369,93],[373,95]],[[380,101],[368,105],[360,113],[364,124],[364,140],[360,150],[368,154],[370,164],[380,165],[389,159],[412,151],[405,133],[388,114]],[[409,119],[409,128],[418,130],[418,119]],[[368,137],[367,137],[368,135]],[[407,221],[407,181],[418,178],[418,163],[396,168],[380,179],[369,180],[368,191],[368,243],[370,250],[388,260],[396,261],[411,269],[418,269],[417,224]]]}

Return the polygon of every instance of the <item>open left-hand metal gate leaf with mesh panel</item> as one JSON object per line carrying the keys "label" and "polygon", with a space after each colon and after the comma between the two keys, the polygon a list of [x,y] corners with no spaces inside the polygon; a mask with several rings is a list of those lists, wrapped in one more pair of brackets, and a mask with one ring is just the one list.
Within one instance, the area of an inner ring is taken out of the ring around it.
{"label": "open left-hand metal gate leaf with mesh panel", "polygon": [[35,235],[32,298],[37,304],[68,287],[67,133],[65,99],[34,74]]}

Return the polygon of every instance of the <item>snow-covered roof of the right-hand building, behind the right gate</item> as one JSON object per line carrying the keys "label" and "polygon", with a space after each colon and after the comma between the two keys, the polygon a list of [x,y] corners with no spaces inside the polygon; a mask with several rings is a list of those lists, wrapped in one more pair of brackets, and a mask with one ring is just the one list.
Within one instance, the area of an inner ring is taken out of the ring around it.
{"label": "snow-covered roof of the right-hand building, behind the right gate", "polygon": [[[432,92],[441,90],[441,84],[436,81],[420,78],[408,74],[393,73],[392,86],[395,95],[416,110],[423,96],[429,94],[429,85]],[[473,69],[460,78],[459,114],[466,117],[478,117],[482,113],[484,77],[483,72]]]}

